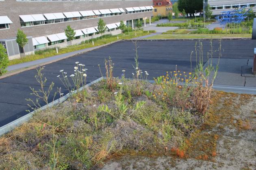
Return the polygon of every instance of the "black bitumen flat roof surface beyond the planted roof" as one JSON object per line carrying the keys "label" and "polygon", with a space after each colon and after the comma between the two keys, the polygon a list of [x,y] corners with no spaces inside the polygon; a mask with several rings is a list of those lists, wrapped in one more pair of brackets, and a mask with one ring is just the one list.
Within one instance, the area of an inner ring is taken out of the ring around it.
{"label": "black bitumen flat roof surface beyond the planted roof", "polygon": [[[176,69],[189,72],[196,65],[199,59],[195,57],[195,43],[197,46],[202,43],[204,62],[207,61],[207,52],[219,49],[219,40],[213,40],[212,47],[210,40],[140,40],[138,44],[139,68],[149,73],[148,79],[165,75],[166,71]],[[249,59],[253,58],[253,49],[256,47],[255,40],[221,40],[222,58]],[[85,64],[87,68],[87,83],[101,77],[98,64],[100,64],[103,76],[105,73],[104,59],[111,57],[114,65],[114,76],[121,77],[122,71],[126,70],[126,78],[132,78],[135,72],[135,46],[132,41],[121,41],[69,57],[52,64],[47,64],[43,73],[48,79],[47,85],[53,81],[55,83],[53,91],[61,87],[64,93],[67,89],[56,77],[60,74],[59,70],[64,70],[68,75],[74,72],[75,62]],[[191,52],[193,51],[192,55]],[[199,57],[200,51],[197,51]],[[192,57],[191,57],[192,56]],[[219,52],[215,52],[214,58],[219,57]],[[30,87],[39,89],[39,84],[35,80],[36,69],[28,70],[15,74],[10,77],[0,79],[0,127],[26,115],[29,107],[26,98],[35,99],[30,95]],[[58,98],[58,97],[56,97]],[[49,98],[52,101],[52,96]],[[43,102],[41,102],[43,104]]]}

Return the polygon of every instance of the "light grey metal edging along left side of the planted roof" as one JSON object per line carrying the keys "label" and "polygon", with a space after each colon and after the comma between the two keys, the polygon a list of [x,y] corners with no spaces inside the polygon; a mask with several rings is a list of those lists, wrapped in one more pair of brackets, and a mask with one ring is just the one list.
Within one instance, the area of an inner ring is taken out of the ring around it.
{"label": "light grey metal edging along left side of the planted roof", "polygon": [[101,78],[99,78],[95,81],[92,81],[91,83],[85,85],[84,87],[80,87],[78,90],[76,90],[72,93],[69,93],[69,94],[67,94],[67,95],[65,95],[65,96],[63,96],[63,97],[61,97],[57,100],[54,100],[53,102],[51,102],[51,103],[49,103],[49,104],[47,104],[47,105],[45,105],[45,106],[43,106],[43,107],[41,107],[37,110],[34,110],[33,112],[30,112],[27,115],[22,116],[19,119],[16,119],[15,121],[12,121],[12,122],[0,127],[0,136],[10,132],[11,130],[15,129],[15,127],[21,125],[22,123],[25,123],[26,121],[29,121],[37,111],[46,110],[46,108],[51,108],[52,106],[60,104],[60,103],[64,102],[65,100],[67,100],[67,98],[69,98],[73,94],[76,94],[78,91],[82,91],[82,89],[85,89],[86,87],[89,87],[89,86],[93,85],[94,83],[97,83],[97,82],[101,81],[102,79],[104,79],[104,78],[101,77]]}

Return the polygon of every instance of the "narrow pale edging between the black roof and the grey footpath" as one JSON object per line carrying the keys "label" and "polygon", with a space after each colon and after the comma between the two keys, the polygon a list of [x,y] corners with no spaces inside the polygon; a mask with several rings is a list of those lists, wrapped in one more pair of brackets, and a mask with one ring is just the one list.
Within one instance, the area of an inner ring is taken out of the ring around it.
{"label": "narrow pale edging between the black roof and the grey footpath", "polygon": [[[17,70],[17,71],[9,72],[9,73],[7,73],[7,74],[4,74],[4,75],[0,76],[0,79],[3,79],[3,78],[5,78],[5,77],[12,76],[12,75],[14,75],[14,74],[18,74],[18,73],[20,73],[20,72],[24,72],[24,71],[27,71],[27,70],[32,70],[32,69],[34,69],[34,68],[37,68],[37,67],[40,67],[40,66],[44,66],[44,65],[46,65],[46,64],[51,64],[51,63],[57,62],[57,61],[59,61],[59,60],[63,60],[63,59],[69,58],[69,57],[73,57],[73,56],[75,56],[75,55],[79,55],[79,54],[82,54],[82,53],[87,53],[87,52],[93,51],[93,50],[95,50],[95,49],[99,49],[99,48],[102,48],[102,47],[106,47],[106,46],[108,46],[108,45],[117,43],[117,42],[122,41],[122,40],[123,40],[123,39],[116,40],[116,41],[113,41],[113,42],[111,42],[111,43],[107,43],[107,44],[104,44],[104,45],[96,46],[94,49],[89,49],[89,50],[87,50],[87,51],[83,51],[83,52],[79,52],[79,53],[75,53],[75,54],[70,54],[70,55],[67,55],[67,56],[65,56],[65,57],[63,57],[63,58],[55,59],[55,60],[52,60],[52,61],[50,61],[50,62],[44,62],[44,63],[37,64],[37,65],[34,65],[34,66],[29,66],[28,68],[22,68],[22,69]],[[125,40],[125,39],[124,39],[124,40]],[[74,52],[74,51],[72,51],[72,52]],[[71,53],[71,52],[70,52],[70,53]],[[65,54],[65,53],[64,53],[64,54]],[[52,57],[53,57],[53,56],[52,56]],[[40,59],[39,59],[39,60],[40,60]]]}

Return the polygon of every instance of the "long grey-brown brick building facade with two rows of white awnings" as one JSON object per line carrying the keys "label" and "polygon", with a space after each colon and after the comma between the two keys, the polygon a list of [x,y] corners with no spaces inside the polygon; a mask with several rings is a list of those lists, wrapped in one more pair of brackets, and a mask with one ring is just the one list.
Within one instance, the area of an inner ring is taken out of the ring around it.
{"label": "long grey-brown brick building facade with two rows of white awnings", "polygon": [[[152,0],[0,0],[0,43],[12,60],[20,53],[62,48],[100,36],[100,18],[106,23],[105,34],[119,34],[121,20],[134,28],[137,21],[150,19],[153,10]],[[74,40],[65,36],[67,26],[75,30]],[[24,51],[16,43],[18,29],[28,38]]]}

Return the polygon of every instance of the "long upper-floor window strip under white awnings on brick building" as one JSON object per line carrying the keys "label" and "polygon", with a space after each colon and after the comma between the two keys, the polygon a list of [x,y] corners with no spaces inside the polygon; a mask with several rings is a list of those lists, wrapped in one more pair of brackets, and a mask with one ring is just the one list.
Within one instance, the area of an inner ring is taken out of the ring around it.
{"label": "long upper-floor window strip under white awnings on brick building", "polygon": [[101,14],[101,15],[91,15],[86,17],[72,17],[72,18],[60,18],[60,19],[48,19],[44,21],[29,21],[24,22],[22,19],[20,19],[20,25],[22,27],[28,27],[28,26],[38,26],[38,25],[44,25],[49,23],[59,23],[59,22],[68,22],[68,21],[77,21],[82,19],[92,19],[92,18],[99,18],[99,17],[110,17],[115,15],[122,15],[123,13],[111,13],[111,14]]}

